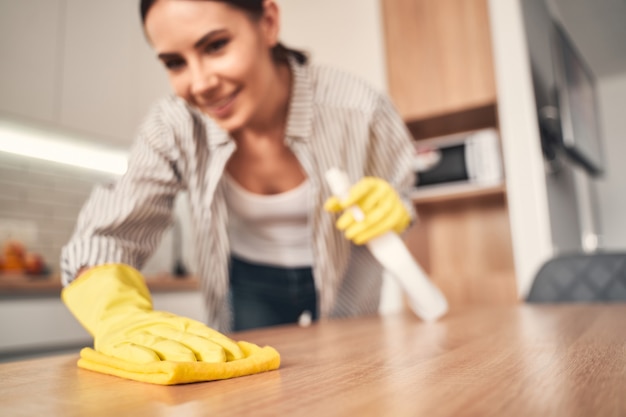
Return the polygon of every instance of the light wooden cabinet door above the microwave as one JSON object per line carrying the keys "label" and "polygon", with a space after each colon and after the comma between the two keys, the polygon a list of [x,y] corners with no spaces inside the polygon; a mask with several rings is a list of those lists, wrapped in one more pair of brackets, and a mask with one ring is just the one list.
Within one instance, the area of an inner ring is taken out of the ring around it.
{"label": "light wooden cabinet door above the microwave", "polygon": [[407,120],[496,101],[487,0],[382,0],[389,92]]}

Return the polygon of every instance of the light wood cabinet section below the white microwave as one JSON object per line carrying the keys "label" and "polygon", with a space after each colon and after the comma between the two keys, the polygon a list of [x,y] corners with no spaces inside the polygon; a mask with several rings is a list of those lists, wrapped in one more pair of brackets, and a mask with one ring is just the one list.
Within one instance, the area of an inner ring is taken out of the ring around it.
{"label": "light wood cabinet section below the white microwave", "polygon": [[451,308],[518,302],[504,193],[427,200],[416,209],[405,242]]}

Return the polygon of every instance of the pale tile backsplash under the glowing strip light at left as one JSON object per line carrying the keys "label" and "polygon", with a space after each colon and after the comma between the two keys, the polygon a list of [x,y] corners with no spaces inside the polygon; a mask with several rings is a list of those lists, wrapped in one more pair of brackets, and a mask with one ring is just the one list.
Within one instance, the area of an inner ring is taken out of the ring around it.
{"label": "pale tile backsplash under the glowing strip light at left", "polygon": [[[0,244],[18,239],[58,272],[61,248],[93,187],[115,179],[113,174],[0,152]],[[168,230],[143,272],[171,272],[172,265],[172,231]]]}

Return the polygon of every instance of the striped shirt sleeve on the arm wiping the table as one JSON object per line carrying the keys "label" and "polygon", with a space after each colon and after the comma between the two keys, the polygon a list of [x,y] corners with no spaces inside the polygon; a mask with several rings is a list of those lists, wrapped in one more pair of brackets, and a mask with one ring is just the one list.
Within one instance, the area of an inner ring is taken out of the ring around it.
{"label": "striped shirt sleeve on the arm wiping the table", "polygon": [[174,199],[184,188],[174,133],[153,111],[139,130],[126,173],[97,186],[61,251],[61,280],[82,267],[124,263],[141,269],[172,223]]}

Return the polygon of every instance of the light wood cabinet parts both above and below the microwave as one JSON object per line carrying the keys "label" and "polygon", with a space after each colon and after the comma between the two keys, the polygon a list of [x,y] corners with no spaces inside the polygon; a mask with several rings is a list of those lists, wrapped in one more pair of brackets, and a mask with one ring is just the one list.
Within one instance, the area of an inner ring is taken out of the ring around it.
{"label": "light wood cabinet parts both above and below the microwave", "polygon": [[[389,93],[414,138],[498,128],[487,0],[381,4]],[[415,194],[405,239],[451,308],[515,303],[504,184],[435,194]]]}

